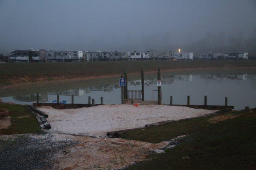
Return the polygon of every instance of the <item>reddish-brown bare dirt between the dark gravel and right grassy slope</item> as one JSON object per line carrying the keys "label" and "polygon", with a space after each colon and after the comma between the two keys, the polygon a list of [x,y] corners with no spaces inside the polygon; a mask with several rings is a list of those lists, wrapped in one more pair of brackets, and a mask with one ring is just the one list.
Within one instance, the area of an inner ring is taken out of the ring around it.
{"label": "reddish-brown bare dirt between the dark gravel and right grassy slope", "polygon": [[[68,135],[67,135],[68,136]],[[60,136],[65,138],[65,135]],[[151,144],[120,138],[71,137],[79,142],[56,155],[57,169],[63,170],[105,170],[126,167],[135,161],[145,160],[148,154],[158,152],[169,142]]]}

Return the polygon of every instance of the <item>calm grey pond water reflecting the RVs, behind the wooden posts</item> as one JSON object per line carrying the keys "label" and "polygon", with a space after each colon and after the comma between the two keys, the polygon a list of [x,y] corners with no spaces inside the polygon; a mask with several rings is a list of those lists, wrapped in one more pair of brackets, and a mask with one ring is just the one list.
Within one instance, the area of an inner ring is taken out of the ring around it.
{"label": "calm grey pond water reflecting the RVs, behind the wooden posts", "polygon": [[[157,78],[145,78],[145,100],[157,100]],[[207,95],[208,105],[224,105],[225,97],[228,105],[234,109],[256,107],[256,74],[188,74],[170,75],[162,77],[162,103],[170,103],[170,95],[173,96],[173,104],[186,104],[187,95],[190,96],[190,104],[204,104],[204,95]],[[141,90],[140,77],[137,80],[128,81],[128,90]],[[24,92],[23,92],[24,93]],[[71,95],[74,95],[74,103],[88,103],[88,96],[100,103],[103,97],[104,104],[120,104],[121,88],[118,79],[116,83],[84,86],[61,91],[47,91],[39,94],[39,102],[52,103],[56,95],[60,95],[60,101],[71,103]],[[153,99],[154,95],[154,99]],[[36,93],[15,96],[2,96],[3,102],[16,104],[32,104],[36,102]]]}

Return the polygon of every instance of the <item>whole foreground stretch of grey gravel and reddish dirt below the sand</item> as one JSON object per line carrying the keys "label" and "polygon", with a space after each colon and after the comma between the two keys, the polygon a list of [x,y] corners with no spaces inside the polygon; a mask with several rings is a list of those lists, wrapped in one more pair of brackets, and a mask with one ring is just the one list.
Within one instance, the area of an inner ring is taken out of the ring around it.
{"label": "whole foreground stretch of grey gravel and reddish dirt below the sand", "polygon": [[163,153],[168,144],[57,133],[0,135],[0,169],[115,170]]}

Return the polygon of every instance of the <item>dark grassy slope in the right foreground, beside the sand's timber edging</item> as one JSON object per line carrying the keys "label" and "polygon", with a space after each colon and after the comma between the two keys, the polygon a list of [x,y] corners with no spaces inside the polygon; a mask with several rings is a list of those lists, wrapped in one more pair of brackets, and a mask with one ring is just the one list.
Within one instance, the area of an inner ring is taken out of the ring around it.
{"label": "dark grassy slope in the right foreground, beside the sand's timber edging", "polygon": [[121,138],[157,143],[187,135],[172,143],[165,153],[153,154],[127,170],[233,170],[256,169],[256,109],[232,111],[175,121],[142,130]]}

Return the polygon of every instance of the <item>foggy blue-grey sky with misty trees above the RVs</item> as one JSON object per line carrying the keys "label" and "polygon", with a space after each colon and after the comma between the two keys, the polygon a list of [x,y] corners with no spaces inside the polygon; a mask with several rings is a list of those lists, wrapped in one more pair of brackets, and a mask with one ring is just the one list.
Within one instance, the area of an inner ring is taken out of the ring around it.
{"label": "foggy blue-grey sky with misty trees above the RVs", "polygon": [[249,52],[256,0],[0,0],[0,54],[12,49]]}

